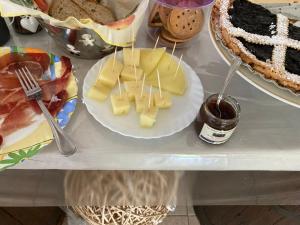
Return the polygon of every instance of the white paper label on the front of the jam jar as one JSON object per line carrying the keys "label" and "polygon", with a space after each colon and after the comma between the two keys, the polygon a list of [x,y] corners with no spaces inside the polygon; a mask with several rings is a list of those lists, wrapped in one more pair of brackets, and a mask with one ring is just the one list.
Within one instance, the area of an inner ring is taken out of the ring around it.
{"label": "white paper label on the front of the jam jar", "polygon": [[216,130],[204,123],[199,137],[210,144],[223,144],[233,134],[235,128],[231,130]]}

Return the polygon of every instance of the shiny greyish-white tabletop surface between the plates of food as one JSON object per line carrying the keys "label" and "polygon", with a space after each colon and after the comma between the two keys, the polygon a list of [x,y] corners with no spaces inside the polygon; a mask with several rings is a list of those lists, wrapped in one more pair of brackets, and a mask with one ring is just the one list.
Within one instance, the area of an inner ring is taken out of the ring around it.
{"label": "shiny greyish-white tabletop surface between the plates of food", "polygon": [[[10,45],[39,47],[64,54],[45,33],[12,35]],[[152,47],[145,27],[137,47]],[[205,29],[199,42],[178,49],[198,73],[206,95],[218,92],[228,66],[218,55]],[[79,84],[96,60],[72,58]],[[201,142],[193,126],[159,140],[135,140],[115,134],[98,124],[79,102],[67,132],[78,152],[71,157],[59,154],[54,143],[33,159],[11,169],[64,170],[288,170],[300,169],[300,110],[262,93],[236,76],[229,94],[238,99],[241,120],[230,142],[212,146]],[[188,109],[187,109],[188,110]]]}

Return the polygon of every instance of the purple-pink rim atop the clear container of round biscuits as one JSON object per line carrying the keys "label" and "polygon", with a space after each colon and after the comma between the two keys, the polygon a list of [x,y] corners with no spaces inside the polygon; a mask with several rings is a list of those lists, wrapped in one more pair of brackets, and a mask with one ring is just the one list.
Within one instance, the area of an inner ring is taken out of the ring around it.
{"label": "purple-pink rim atop the clear container of round biscuits", "polygon": [[170,7],[179,8],[202,8],[211,4],[214,0],[157,0],[159,3]]}

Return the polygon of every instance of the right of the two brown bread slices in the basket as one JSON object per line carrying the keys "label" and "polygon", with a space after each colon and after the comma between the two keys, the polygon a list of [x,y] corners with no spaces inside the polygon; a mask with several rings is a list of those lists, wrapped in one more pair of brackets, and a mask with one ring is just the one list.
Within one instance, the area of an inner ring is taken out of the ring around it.
{"label": "right of the two brown bread slices in the basket", "polygon": [[108,24],[116,20],[114,14],[107,7],[93,1],[72,0],[88,13],[90,18],[101,24]]}

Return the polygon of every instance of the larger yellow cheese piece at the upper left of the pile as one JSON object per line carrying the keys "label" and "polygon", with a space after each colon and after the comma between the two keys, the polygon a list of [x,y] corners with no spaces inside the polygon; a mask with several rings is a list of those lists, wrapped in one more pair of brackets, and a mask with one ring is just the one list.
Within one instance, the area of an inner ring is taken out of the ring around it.
{"label": "larger yellow cheese piece at the upper left of the pile", "polygon": [[103,65],[103,69],[100,72],[100,82],[105,86],[113,88],[117,83],[122,69],[123,64],[117,59],[114,64],[113,57],[110,57]]}

